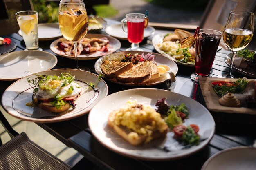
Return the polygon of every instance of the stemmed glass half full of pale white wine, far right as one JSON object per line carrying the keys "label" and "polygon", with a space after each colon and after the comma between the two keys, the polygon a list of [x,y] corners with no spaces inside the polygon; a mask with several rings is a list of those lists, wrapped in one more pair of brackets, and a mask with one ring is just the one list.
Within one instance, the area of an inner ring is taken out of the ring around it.
{"label": "stemmed glass half full of pale white wine, far right", "polygon": [[223,40],[232,51],[227,75],[218,77],[233,78],[232,67],[236,52],[244,49],[252,40],[254,29],[254,13],[247,11],[231,11],[223,31]]}

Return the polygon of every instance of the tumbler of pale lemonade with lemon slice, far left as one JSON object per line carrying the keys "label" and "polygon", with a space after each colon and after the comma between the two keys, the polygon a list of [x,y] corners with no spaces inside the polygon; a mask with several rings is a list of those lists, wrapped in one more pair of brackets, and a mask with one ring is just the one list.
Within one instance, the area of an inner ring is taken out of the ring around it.
{"label": "tumbler of pale lemonade with lemon slice, far left", "polygon": [[26,49],[39,49],[38,13],[36,11],[20,11],[15,15],[22,32],[22,37],[25,42]]}

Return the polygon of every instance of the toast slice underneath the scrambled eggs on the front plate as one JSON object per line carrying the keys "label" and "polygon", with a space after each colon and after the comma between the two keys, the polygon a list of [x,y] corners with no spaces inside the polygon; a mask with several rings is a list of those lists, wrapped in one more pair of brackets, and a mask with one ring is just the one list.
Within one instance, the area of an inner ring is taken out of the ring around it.
{"label": "toast slice underneath the scrambled eggs on the front plate", "polygon": [[[142,134],[138,134],[137,136],[133,136],[133,137],[129,137],[129,133],[130,132],[133,132],[132,130],[126,128],[125,126],[117,126],[115,123],[114,123],[114,120],[115,120],[115,113],[110,113],[109,117],[108,117],[108,125],[110,127],[112,127],[114,129],[114,131],[120,135],[122,138],[124,138],[126,141],[128,141],[130,144],[134,145],[134,146],[137,146],[137,145],[140,145],[140,144],[143,144],[145,143],[146,141],[146,138],[147,138],[147,135],[142,135]],[[160,137],[165,137],[166,134],[168,132],[168,126],[165,125],[165,130],[163,132],[159,132],[159,131],[155,131],[152,133],[151,137],[153,139],[157,139],[157,138],[160,138]],[[135,132],[136,133],[136,132]]]}

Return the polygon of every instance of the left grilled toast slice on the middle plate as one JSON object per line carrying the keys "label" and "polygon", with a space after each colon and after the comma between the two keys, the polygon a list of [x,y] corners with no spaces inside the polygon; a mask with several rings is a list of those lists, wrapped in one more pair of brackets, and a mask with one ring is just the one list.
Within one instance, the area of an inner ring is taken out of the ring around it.
{"label": "left grilled toast slice on the middle plate", "polygon": [[132,62],[118,62],[104,60],[101,64],[101,71],[105,77],[112,79],[128,71],[133,67]]}

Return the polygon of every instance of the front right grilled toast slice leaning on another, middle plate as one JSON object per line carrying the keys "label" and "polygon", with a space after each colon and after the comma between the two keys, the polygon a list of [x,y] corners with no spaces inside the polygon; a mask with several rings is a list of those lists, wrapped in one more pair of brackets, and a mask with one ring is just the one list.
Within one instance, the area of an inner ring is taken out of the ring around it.
{"label": "front right grilled toast slice leaning on another, middle plate", "polygon": [[149,61],[134,65],[130,70],[117,76],[118,82],[139,83],[151,78],[151,63]]}

